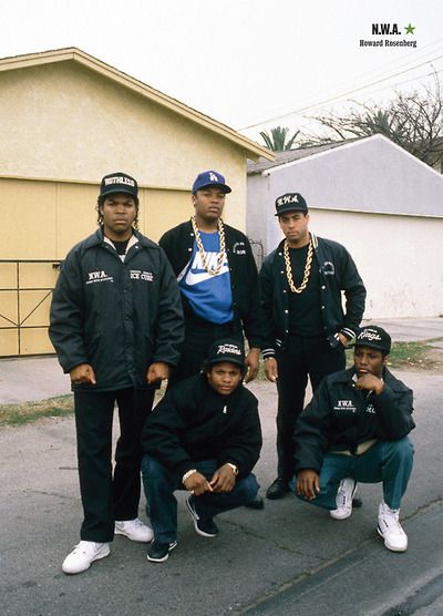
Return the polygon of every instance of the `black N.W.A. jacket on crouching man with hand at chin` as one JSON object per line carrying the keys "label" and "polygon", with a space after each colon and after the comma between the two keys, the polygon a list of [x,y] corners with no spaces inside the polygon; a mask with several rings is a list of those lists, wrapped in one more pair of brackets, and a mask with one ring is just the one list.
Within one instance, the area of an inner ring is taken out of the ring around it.
{"label": "black N.W.A. jacket on crouching man with hand at chin", "polygon": [[298,418],[296,472],[320,472],[327,451],[353,453],[359,443],[372,439],[396,441],[415,428],[412,390],[387,368],[384,390],[379,396],[357,389],[353,376],[354,369],[350,368],[326,377]]}

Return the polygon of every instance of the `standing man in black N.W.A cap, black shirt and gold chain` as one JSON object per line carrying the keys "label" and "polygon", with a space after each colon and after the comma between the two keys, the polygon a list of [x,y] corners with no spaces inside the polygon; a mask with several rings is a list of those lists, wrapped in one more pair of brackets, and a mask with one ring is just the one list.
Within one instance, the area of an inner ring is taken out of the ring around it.
{"label": "standing man in black N.W.A cap, black shirt and gold chain", "polygon": [[308,206],[299,193],[278,197],[276,211],[285,239],[260,271],[265,372],[278,388],[278,471],[268,499],[289,492],[293,429],[308,377],[316,391],[323,377],[344,369],[344,346],[356,336],[365,299],[348,250],[309,233]]}

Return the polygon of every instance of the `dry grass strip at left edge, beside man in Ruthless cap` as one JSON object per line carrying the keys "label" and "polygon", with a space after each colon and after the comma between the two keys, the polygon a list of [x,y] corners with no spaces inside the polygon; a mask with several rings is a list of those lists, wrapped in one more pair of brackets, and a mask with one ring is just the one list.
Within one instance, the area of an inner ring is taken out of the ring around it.
{"label": "dry grass strip at left edge, beside man in Ruthless cap", "polygon": [[18,404],[0,405],[0,427],[23,425],[39,419],[65,417],[74,412],[74,397],[72,393],[39,400],[37,402],[20,402]]}

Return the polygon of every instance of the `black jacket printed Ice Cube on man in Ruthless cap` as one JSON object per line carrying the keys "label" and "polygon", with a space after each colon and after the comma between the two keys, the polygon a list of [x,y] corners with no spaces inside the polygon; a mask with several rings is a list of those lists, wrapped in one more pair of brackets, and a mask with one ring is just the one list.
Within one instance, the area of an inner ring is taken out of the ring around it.
{"label": "black jacket printed Ice Cube on man in Ruthless cap", "polygon": [[75,390],[147,387],[153,361],[178,361],[184,326],[177,281],[163,250],[134,235],[138,243],[124,263],[99,229],[62,265],[49,335],[64,372],[91,363],[97,379]]}

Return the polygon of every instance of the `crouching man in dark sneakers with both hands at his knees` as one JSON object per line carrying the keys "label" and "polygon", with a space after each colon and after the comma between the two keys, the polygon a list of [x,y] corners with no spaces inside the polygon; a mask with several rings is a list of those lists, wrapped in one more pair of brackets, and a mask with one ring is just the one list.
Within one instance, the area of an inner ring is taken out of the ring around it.
{"label": "crouching man in dark sneakers with both hands at his knees", "polygon": [[147,418],[142,434],[143,484],[154,530],[147,559],[166,561],[177,545],[174,491],[189,492],[187,511],[195,531],[215,537],[214,517],[251,502],[258,491],[251,473],[261,449],[258,401],[243,386],[243,346],[214,342],[203,373],[175,386]]}

